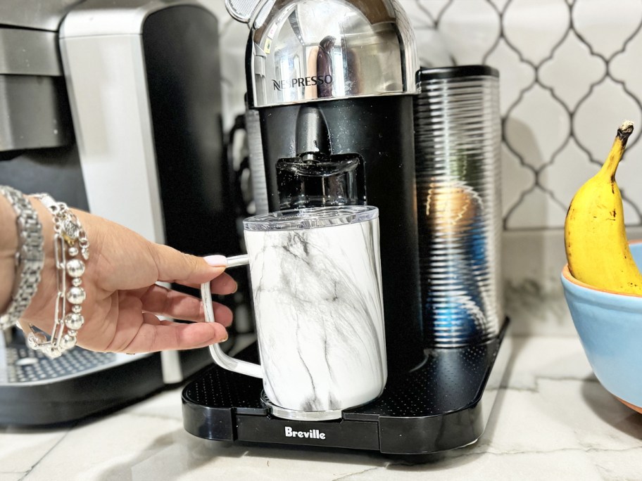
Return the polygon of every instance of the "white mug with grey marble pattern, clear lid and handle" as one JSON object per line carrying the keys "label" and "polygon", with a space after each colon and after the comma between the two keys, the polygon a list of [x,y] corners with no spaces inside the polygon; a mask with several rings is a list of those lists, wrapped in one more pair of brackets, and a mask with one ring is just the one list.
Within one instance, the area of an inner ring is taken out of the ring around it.
{"label": "white mug with grey marble pattern, clear lid and handle", "polygon": [[[310,207],[244,220],[260,365],[210,347],[216,364],[263,378],[275,416],[321,421],[366,404],[387,378],[379,210]],[[201,286],[213,321],[209,284]],[[267,397],[267,399],[265,399]]]}

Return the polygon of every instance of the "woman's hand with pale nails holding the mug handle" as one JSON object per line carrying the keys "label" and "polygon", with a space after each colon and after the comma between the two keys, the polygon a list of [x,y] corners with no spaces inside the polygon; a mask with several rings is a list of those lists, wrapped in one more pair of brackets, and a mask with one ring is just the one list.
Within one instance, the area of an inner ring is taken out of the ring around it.
{"label": "woman's hand with pale nails holding the mug handle", "polygon": [[[20,322],[25,332],[32,323],[49,335],[57,295],[53,220],[39,200],[30,200],[42,222],[45,264],[37,293]],[[87,297],[82,303],[84,325],[77,334],[78,345],[94,351],[136,353],[191,349],[227,339],[225,326],[232,323],[230,309],[214,304],[217,322],[206,323],[198,297],[157,284],[198,288],[212,281],[213,293],[234,293],[236,283],[223,274],[225,257],[203,259],[183,254],[101,217],[73,212],[90,243],[82,276]],[[159,316],[195,322],[177,323]]]}

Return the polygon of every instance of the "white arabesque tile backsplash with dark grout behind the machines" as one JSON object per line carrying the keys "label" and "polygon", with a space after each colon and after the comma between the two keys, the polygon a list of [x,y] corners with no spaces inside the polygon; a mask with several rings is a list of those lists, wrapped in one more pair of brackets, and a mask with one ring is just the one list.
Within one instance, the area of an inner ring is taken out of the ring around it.
{"label": "white arabesque tile backsplash with dark grout behind the machines", "polygon": [[[248,27],[222,0],[225,126],[244,111]],[[422,65],[486,63],[500,72],[503,263],[517,331],[572,333],[559,273],[562,226],[623,120],[636,123],[618,172],[624,217],[642,237],[642,1],[398,0]]]}

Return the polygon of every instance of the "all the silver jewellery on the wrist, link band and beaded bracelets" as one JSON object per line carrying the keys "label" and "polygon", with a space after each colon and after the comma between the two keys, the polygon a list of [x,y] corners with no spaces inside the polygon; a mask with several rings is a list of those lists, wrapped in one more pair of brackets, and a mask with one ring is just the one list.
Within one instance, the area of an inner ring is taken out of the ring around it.
{"label": "all the silver jewellery on the wrist, link band and beaded bracelets", "polygon": [[[29,306],[40,282],[44,265],[44,237],[37,212],[25,196],[15,188],[0,186],[0,195],[9,201],[16,214],[18,251],[15,254],[15,282],[11,302],[0,316],[0,329],[20,326],[20,318]],[[76,345],[76,335],[84,323],[82,288],[84,262],[89,259],[89,241],[78,218],[65,203],[56,202],[47,194],[37,194],[53,216],[53,252],[56,267],[56,309],[49,339],[30,324],[27,345],[55,358]]]}

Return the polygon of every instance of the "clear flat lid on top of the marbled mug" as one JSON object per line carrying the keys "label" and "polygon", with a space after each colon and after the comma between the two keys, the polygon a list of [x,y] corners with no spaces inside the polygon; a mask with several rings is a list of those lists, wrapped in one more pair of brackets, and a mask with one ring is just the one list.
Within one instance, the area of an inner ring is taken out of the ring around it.
{"label": "clear flat lid on top of the marbled mug", "polygon": [[372,205],[308,207],[248,217],[243,227],[246,231],[298,231],[355,224],[377,217],[379,209]]}

